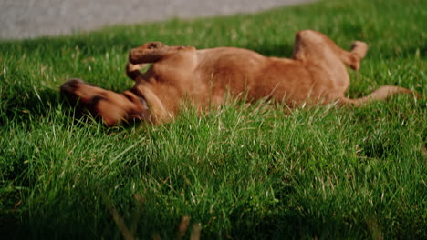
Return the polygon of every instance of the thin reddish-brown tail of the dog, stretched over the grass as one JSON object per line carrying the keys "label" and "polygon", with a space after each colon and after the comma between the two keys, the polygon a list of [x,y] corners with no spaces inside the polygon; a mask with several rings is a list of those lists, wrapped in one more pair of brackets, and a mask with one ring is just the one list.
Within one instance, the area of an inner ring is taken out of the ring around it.
{"label": "thin reddish-brown tail of the dog, stretched over the grass", "polygon": [[341,103],[343,103],[344,105],[361,106],[366,105],[372,101],[386,100],[389,96],[396,94],[415,95],[417,98],[420,98],[422,96],[401,86],[381,85],[370,95],[366,95],[357,99],[342,98]]}

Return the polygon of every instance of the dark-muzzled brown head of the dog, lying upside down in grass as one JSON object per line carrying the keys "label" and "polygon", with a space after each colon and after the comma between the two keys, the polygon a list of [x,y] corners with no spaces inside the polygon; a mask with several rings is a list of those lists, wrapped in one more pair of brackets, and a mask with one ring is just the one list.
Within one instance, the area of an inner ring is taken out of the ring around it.
{"label": "dark-muzzled brown head of the dog, lying upside down in grass", "polygon": [[99,116],[106,125],[116,125],[120,121],[151,121],[151,114],[142,96],[130,91],[117,94],[89,85],[80,79],[70,79],[60,86],[71,105],[88,109],[92,115]]}

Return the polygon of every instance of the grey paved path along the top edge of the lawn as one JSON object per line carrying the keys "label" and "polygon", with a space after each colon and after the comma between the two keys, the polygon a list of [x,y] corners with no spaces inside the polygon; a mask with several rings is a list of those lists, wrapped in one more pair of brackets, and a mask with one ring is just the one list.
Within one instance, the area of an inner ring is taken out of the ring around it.
{"label": "grey paved path along the top edge of the lawn", "polygon": [[67,35],[172,17],[254,13],[313,0],[0,0],[0,38]]}

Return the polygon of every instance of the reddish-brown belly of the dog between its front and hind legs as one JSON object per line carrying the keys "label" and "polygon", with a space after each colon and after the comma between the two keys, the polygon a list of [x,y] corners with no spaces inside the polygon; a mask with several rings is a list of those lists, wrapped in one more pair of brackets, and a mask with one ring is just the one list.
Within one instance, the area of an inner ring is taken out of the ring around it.
{"label": "reddish-brown belly of the dog between its front and hind legs", "polygon": [[249,101],[266,98],[300,104],[314,90],[307,68],[292,59],[229,47],[199,50],[197,54],[197,82],[209,89],[209,99],[216,104],[222,104],[226,94],[245,94]]}

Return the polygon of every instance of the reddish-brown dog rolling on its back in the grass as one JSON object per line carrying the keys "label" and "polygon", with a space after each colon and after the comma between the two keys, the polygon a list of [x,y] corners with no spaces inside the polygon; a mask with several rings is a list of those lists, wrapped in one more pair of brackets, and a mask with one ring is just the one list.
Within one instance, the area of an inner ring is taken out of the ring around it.
{"label": "reddish-brown dog rolling on its back in the grass", "polygon": [[[312,30],[297,33],[292,59],[234,47],[196,50],[152,42],[130,51],[126,70],[135,81],[130,91],[120,95],[78,79],[68,80],[60,90],[71,101],[79,99],[107,125],[133,119],[164,123],[178,113],[182,100],[203,109],[223,104],[227,93],[245,94],[248,101],[266,98],[291,106],[332,102],[359,106],[397,93],[412,93],[386,85],[359,99],[346,98],[346,65],[358,70],[367,50],[365,43],[357,41],[351,51],[345,51]],[[146,73],[140,72],[151,63]]]}

